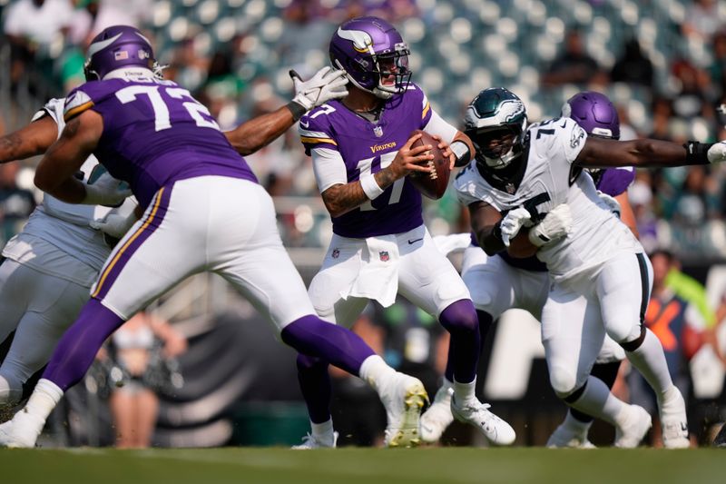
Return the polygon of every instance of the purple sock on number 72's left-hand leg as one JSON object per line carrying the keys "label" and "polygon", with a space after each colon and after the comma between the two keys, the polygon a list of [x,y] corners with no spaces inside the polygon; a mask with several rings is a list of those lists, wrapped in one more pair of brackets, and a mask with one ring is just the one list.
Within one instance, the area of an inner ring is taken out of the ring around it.
{"label": "purple sock on number 72's left-hand leg", "polygon": [[64,391],[73,387],[93,363],[103,341],[123,322],[100,301],[86,302],[73,326],[58,341],[43,378],[53,381]]}

